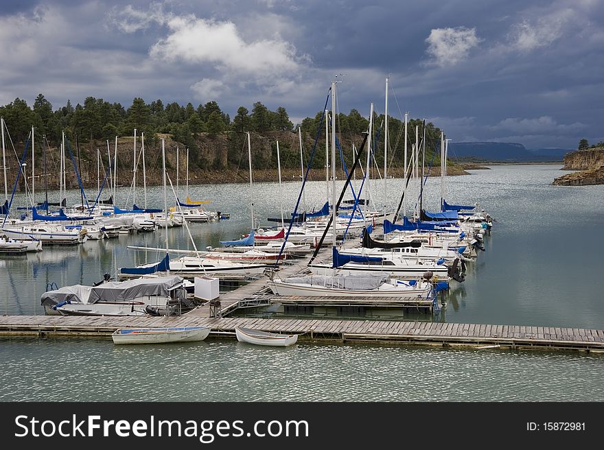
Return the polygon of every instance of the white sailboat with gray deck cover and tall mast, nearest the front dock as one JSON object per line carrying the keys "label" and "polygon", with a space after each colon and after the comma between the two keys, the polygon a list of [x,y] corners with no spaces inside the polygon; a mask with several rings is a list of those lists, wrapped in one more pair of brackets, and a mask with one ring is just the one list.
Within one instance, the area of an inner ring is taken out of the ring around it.
{"label": "white sailboat with gray deck cover and tall mast, nearest the front dock", "polygon": [[[336,193],[336,83],[332,82],[332,195]],[[340,200],[333,202],[332,217],[328,226],[332,226],[332,266],[327,274],[311,274],[303,276],[291,276],[279,279],[275,276],[268,283],[273,294],[294,296],[329,296],[329,297],[353,297],[364,296],[367,298],[396,297],[399,299],[432,298],[434,289],[432,285],[432,274],[426,272],[426,276],[413,281],[402,281],[393,279],[388,274],[341,274],[340,266],[349,261],[360,263],[372,263],[381,261],[381,258],[342,255],[336,248],[336,211],[342,200],[347,185],[350,182],[362,150],[367,143],[368,133],[364,134],[363,143],[360,147],[353,167],[342,188]],[[325,228],[325,233],[327,228]],[[315,250],[312,260],[316,257],[318,248]]]}

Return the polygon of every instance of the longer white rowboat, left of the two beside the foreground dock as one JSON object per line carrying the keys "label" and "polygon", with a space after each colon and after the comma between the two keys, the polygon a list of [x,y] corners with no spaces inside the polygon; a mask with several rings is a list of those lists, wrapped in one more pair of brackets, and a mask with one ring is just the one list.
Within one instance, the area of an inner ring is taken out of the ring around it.
{"label": "longer white rowboat, left of the two beside the foreground dock", "polygon": [[204,340],[207,327],[128,328],[115,330],[113,344],[162,344],[165,342],[194,342]]}

